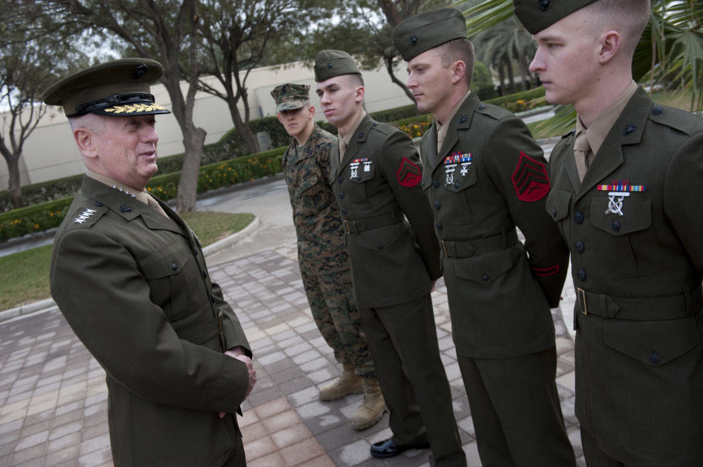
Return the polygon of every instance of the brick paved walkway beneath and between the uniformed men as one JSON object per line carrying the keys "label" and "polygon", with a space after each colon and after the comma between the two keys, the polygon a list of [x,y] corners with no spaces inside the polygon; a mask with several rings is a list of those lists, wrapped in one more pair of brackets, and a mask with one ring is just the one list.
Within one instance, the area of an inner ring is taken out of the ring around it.
{"label": "brick paved walkway beneath and between the uniformed men", "polygon": [[[245,328],[259,382],[240,419],[250,467],[426,466],[427,451],[372,459],[387,438],[388,416],[356,432],[347,417],[361,395],[319,402],[340,374],[310,315],[295,242],[209,268]],[[446,288],[432,295],[442,360],[470,466],[479,466],[471,415],[451,341]],[[570,438],[581,455],[574,416],[574,351],[558,310],[557,385]],[[104,371],[58,310],[0,323],[0,466],[112,466]],[[580,461],[580,465],[585,465]]]}

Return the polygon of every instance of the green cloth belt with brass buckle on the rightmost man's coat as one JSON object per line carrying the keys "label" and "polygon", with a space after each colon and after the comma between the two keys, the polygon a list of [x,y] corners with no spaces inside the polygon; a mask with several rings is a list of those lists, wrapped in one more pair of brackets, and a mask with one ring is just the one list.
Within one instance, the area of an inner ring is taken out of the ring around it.
{"label": "green cloth belt with brass buckle on the rightmost man's coat", "polygon": [[701,287],[686,289],[681,295],[652,298],[622,298],[576,289],[576,310],[583,315],[597,315],[621,320],[675,320],[695,315],[701,309]]}

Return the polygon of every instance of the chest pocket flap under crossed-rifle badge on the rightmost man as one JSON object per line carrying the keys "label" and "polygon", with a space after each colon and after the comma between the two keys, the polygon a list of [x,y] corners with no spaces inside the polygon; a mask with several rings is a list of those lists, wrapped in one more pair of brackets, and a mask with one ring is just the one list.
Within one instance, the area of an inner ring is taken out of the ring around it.
{"label": "chest pocket flap under crossed-rifle badge on the rightmost man", "polygon": [[[652,201],[650,199],[626,197],[620,209],[622,216],[610,212],[610,200],[594,198],[591,202],[591,222],[595,227],[610,235],[626,235],[644,230],[652,225]],[[608,212],[607,212],[608,211]]]}

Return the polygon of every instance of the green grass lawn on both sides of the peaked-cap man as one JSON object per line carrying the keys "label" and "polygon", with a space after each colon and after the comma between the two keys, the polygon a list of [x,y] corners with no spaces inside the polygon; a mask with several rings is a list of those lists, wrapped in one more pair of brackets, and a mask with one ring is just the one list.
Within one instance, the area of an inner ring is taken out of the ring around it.
{"label": "green grass lawn on both sides of the peaked-cap man", "polygon": [[[242,230],[254,215],[199,211],[183,214],[183,219],[207,246]],[[51,245],[0,258],[0,310],[49,298],[50,263]]]}

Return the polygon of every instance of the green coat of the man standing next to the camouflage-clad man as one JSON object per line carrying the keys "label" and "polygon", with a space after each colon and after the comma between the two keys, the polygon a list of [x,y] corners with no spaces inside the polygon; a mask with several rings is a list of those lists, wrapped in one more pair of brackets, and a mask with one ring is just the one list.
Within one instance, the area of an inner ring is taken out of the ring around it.
{"label": "green coat of the man standing next to the camouflage-clad man", "polygon": [[439,247],[410,137],[367,115],[344,160],[335,145],[330,161],[356,304],[399,305],[429,294],[440,276]]}

